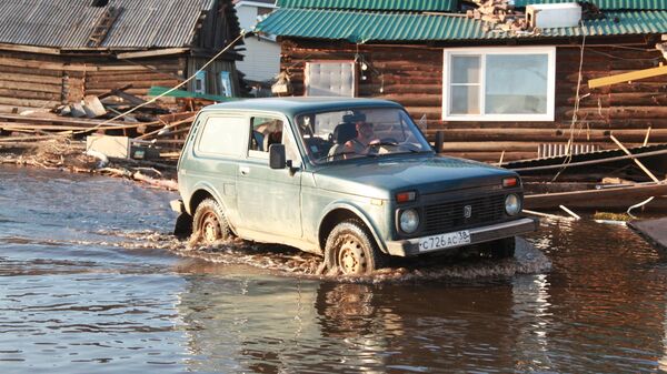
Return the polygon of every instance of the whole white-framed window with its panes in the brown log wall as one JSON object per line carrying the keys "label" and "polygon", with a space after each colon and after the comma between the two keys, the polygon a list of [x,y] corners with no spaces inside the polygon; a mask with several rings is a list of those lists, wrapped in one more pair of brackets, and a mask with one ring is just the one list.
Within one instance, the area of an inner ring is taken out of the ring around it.
{"label": "whole white-framed window with its panes in the brown log wall", "polygon": [[552,121],[554,47],[445,50],[446,121]]}

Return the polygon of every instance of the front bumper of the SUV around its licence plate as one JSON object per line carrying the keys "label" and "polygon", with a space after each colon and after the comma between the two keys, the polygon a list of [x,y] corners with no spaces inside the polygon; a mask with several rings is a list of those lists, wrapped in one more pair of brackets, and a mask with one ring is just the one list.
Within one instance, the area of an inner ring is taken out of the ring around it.
{"label": "front bumper of the SUV around its licence plate", "polygon": [[470,233],[470,243],[448,246],[445,249],[420,252],[419,251],[419,240],[421,237],[414,237],[407,240],[399,241],[388,241],[386,242],[387,252],[395,256],[412,256],[421,253],[434,253],[434,252],[445,252],[451,249],[457,249],[467,245],[475,245],[479,243],[490,242],[498,239],[510,237],[515,235],[520,235],[529,232],[534,232],[537,230],[538,220],[530,218],[521,218],[518,220],[502,222],[497,224],[491,224],[488,226],[475,228],[467,230]]}

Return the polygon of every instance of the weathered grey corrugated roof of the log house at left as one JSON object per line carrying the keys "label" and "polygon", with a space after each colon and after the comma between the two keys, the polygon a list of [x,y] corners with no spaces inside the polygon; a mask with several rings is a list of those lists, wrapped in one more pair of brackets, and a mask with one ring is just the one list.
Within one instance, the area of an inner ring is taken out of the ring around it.
{"label": "weathered grey corrugated roof of the log house at left", "polygon": [[[0,43],[82,48],[104,8],[91,0],[0,0]],[[191,43],[215,0],[109,0],[125,10],[103,48],[170,48]]]}

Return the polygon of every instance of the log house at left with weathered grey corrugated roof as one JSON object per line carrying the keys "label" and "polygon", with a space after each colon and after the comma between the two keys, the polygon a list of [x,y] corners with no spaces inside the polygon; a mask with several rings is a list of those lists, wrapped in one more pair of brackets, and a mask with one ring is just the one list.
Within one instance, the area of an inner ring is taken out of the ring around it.
{"label": "log house at left with weathered grey corrugated roof", "polygon": [[[3,0],[0,112],[173,87],[239,33],[231,0]],[[230,49],[185,89],[237,94],[240,59]]]}

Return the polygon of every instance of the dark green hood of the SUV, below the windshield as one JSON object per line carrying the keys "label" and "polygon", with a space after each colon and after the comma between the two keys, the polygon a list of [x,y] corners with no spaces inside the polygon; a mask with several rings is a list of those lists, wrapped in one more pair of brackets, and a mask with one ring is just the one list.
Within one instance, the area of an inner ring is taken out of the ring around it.
{"label": "dark green hood of the SUV, below the windshield", "polygon": [[430,194],[498,186],[502,178],[517,174],[476,161],[430,155],[350,160],[322,166],[313,176],[320,189],[374,199],[391,199],[396,192],[408,190]]}

